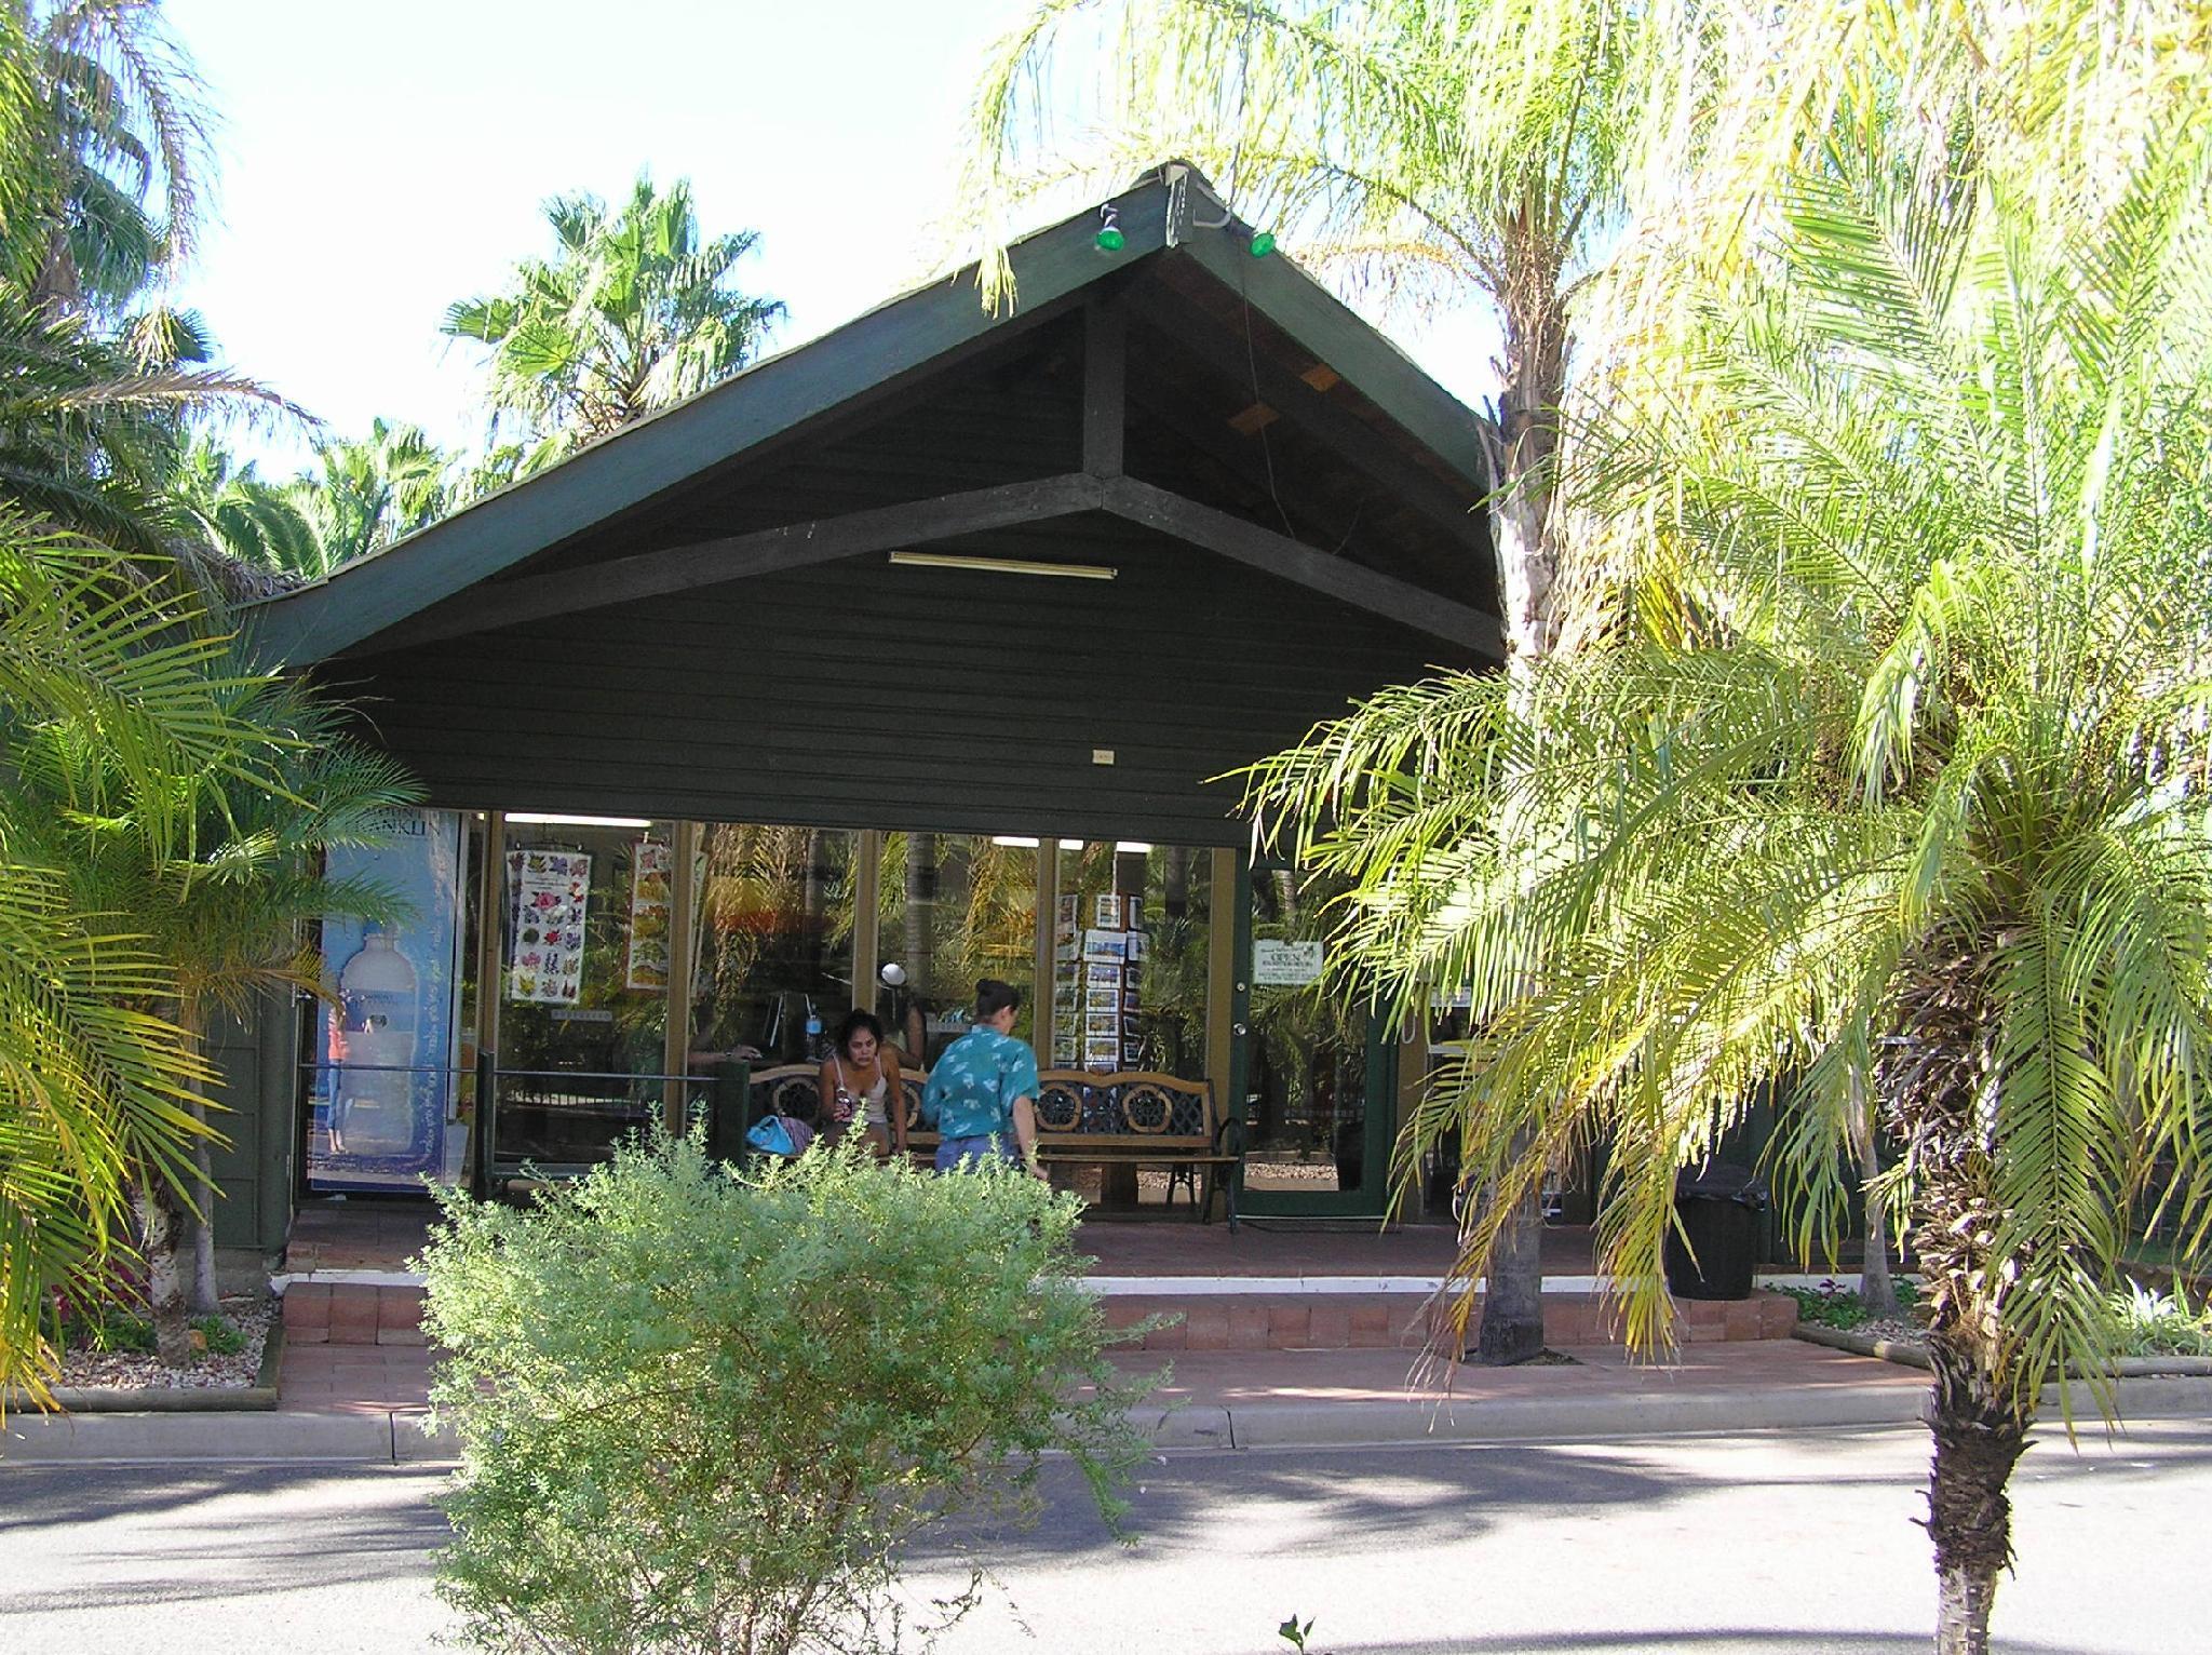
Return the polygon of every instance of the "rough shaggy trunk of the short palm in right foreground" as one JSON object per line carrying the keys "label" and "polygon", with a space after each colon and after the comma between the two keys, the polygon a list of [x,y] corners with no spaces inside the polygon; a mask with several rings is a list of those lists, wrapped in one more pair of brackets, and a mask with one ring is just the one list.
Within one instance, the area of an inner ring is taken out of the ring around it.
{"label": "rough shaggy trunk of the short palm in right foreground", "polygon": [[1997,1007],[1986,971],[1984,956],[1953,949],[1920,974],[1900,996],[1905,1042],[1885,1075],[1889,1126],[1913,1159],[1913,1243],[1931,1294],[1936,1655],[1989,1651],[1997,1573],[2013,1562],[2004,1489],[2035,1423],[2004,1334],[2011,1272],[1991,1255],[2004,1210],[1991,1195]]}

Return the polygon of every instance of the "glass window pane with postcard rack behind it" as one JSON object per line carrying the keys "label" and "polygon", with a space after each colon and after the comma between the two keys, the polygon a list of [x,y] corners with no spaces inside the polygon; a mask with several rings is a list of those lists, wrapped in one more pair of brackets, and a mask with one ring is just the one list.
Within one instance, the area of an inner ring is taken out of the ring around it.
{"label": "glass window pane with postcard rack behind it", "polygon": [[1208,852],[1062,841],[1051,1066],[1203,1080],[1210,934]]}

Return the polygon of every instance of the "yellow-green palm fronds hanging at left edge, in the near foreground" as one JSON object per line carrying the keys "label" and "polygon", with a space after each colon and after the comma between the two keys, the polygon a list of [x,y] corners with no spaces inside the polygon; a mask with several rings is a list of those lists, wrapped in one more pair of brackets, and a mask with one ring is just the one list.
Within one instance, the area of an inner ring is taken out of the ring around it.
{"label": "yellow-green palm fronds hanging at left edge, in the near foreground", "polygon": [[100,1292],[131,1188],[181,1195],[206,1137],[195,1104],[210,1071],[148,1011],[175,991],[168,965],[142,916],[73,903],[66,872],[38,856],[53,816],[15,772],[27,746],[97,743],[93,814],[133,812],[148,843],[184,854],[179,779],[241,770],[223,646],[188,622],[119,553],[0,518],[0,1405],[9,1385],[46,1394],[44,1292]]}

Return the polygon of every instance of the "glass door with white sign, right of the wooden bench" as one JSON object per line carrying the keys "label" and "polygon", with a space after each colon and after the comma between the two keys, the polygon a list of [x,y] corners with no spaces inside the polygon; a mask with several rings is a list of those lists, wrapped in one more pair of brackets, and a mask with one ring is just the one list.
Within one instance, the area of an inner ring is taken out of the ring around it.
{"label": "glass door with white sign, right of the wooden bench", "polygon": [[1243,1210],[1365,1217],[1387,1204],[1396,1042],[1323,989],[1336,887],[1254,863],[1239,903],[1232,1089],[1245,1111]]}

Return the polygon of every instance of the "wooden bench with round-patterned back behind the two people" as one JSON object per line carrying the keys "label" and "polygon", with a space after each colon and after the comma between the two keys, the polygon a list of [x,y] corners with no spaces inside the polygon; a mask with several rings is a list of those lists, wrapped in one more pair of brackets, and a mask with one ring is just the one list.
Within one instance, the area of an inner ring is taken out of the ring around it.
{"label": "wooden bench with round-patterned back behind the two people", "polygon": [[[927,1084],[927,1071],[898,1073],[907,1106],[907,1153],[922,1164],[938,1148],[938,1135],[920,1124]],[[1210,1221],[1219,1190],[1230,1230],[1237,1228],[1243,1128],[1241,1122],[1219,1117],[1210,1084],[1139,1069],[1046,1069],[1037,1075],[1037,1157],[1046,1166],[1166,1166],[1170,1201],[1177,1177],[1188,1177],[1192,1217]],[[790,1115],[818,1126],[821,1064],[757,1069],[745,1124],[763,1115]]]}

